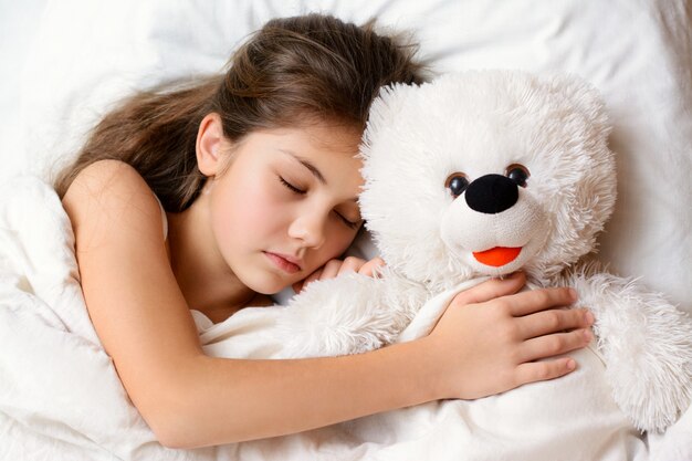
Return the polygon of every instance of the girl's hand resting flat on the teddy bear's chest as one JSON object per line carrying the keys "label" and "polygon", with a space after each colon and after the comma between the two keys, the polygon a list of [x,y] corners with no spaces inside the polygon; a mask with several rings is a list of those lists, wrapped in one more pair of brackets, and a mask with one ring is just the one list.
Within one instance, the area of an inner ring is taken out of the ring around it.
{"label": "girl's hand resting flat on the teddy bear's chest", "polygon": [[588,345],[594,316],[560,308],[576,301],[574,290],[517,293],[524,283],[516,273],[458,294],[423,338],[438,360],[441,398],[475,399],[576,368],[569,357],[541,359]]}

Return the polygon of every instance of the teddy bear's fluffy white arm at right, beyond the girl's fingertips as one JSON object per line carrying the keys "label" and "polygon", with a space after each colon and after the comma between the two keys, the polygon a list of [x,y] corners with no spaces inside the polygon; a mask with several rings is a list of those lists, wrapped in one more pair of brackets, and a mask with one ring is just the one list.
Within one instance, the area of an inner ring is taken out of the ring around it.
{"label": "teddy bear's fluffy white arm at right, beyond the girl's fingertips", "polygon": [[585,266],[564,282],[596,317],[594,333],[618,406],[662,431],[692,400],[692,319],[642,284]]}

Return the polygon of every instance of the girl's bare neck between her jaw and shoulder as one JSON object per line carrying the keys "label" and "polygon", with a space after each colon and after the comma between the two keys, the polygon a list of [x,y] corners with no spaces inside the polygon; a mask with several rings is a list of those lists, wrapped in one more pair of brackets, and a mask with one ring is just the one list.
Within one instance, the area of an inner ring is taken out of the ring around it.
{"label": "girl's bare neck between her jaw and shoulder", "polygon": [[181,213],[167,213],[170,263],[190,308],[221,322],[240,308],[264,304],[219,258],[200,197]]}

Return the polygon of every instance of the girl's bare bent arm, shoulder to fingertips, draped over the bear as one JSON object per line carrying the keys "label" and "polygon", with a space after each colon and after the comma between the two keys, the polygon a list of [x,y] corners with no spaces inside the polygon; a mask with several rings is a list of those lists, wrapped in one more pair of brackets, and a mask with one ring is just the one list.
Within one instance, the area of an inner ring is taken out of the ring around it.
{"label": "girl's bare bent arm, shoulder to fingertips, draped over the bear", "polygon": [[545,311],[569,304],[567,290],[481,303],[518,291],[520,276],[462,293],[436,331],[416,342],[333,358],[207,357],[166,254],[160,209],[141,177],[118,161],[96,163],[63,205],[94,327],[134,405],[169,447],[273,437],[494,394],[568,373],[566,359],[532,362],[588,343],[581,331],[532,339],[587,326],[579,311]]}

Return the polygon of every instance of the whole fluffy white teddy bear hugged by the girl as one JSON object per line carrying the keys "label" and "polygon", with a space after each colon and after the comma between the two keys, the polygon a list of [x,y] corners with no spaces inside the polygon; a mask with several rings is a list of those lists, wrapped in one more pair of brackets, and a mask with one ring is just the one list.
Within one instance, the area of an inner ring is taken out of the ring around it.
{"label": "whole fluffy white teddy bear hugged by the girl", "polygon": [[[692,398],[691,322],[586,262],[616,199],[609,130],[598,92],[572,76],[479,71],[384,91],[361,149],[360,205],[387,265],[294,297],[287,355],[426,334],[459,290],[522,269],[530,286],[574,286],[594,311],[605,370],[586,386],[604,380],[638,429],[667,428]],[[442,302],[422,315],[433,298]]]}

